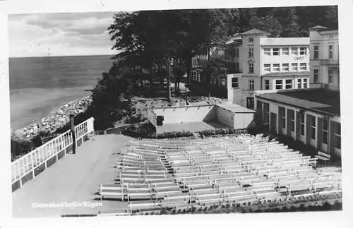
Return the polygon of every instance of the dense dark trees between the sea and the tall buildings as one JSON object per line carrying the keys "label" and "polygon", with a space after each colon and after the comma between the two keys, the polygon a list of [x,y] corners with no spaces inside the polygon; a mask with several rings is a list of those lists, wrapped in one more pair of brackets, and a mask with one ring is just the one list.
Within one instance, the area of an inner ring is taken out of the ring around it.
{"label": "dense dark trees between the sea and the tall buildings", "polygon": [[[227,72],[222,59],[211,59],[210,52],[225,44],[230,36],[257,28],[271,37],[308,37],[309,28],[322,25],[338,28],[337,6],[278,8],[189,9],[170,11],[119,12],[108,31],[114,65],[103,73],[92,93],[92,116],[97,128],[108,128],[121,116],[128,116],[129,95],[143,88],[152,78],[174,78],[179,88],[181,77],[190,78],[191,59],[207,54],[208,75]],[[210,78],[208,78],[210,80]],[[167,83],[167,99],[170,88]]]}

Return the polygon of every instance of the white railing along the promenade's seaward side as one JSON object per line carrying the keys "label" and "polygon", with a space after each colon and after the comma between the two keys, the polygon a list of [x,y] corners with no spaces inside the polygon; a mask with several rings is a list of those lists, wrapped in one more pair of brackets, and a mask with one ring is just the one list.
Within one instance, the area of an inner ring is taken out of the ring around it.
{"label": "white railing along the promenade's seaward side", "polygon": [[[78,124],[78,126],[75,126],[76,145],[79,140],[82,140],[83,142],[84,136],[87,136],[88,133],[92,133],[94,131],[93,121],[94,119],[91,117],[83,123]],[[64,152],[64,155],[66,155],[66,148],[70,147],[72,144],[72,133],[71,130],[68,130],[60,136],[49,140],[49,142],[41,145],[39,148],[32,150],[27,155],[13,161],[11,164],[12,184],[20,180],[21,187],[23,185],[23,176],[26,176],[32,172],[32,178],[34,178],[35,169],[37,167],[44,165],[44,169],[47,169],[47,161],[51,160],[53,157],[56,157],[56,161],[59,160],[59,153]]]}

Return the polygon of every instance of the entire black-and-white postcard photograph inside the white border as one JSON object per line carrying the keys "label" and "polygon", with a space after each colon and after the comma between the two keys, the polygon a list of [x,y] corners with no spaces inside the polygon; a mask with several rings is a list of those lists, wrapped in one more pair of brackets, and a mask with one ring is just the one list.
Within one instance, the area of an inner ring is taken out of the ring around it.
{"label": "entire black-and-white postcard photograph inside the white border", "polygon": [[339,11],[8,14],[13,217],[342,211]]}

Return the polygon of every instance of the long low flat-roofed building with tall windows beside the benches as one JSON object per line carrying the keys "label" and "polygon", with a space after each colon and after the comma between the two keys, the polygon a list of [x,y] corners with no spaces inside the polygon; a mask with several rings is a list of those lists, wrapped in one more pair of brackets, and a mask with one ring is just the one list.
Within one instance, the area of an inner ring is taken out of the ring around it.
{"label": "long low flat-roofed building with tall windows beside the benches", "polygon": [[341,156],[340,92],[325,88],[256,91],[257,125]]}

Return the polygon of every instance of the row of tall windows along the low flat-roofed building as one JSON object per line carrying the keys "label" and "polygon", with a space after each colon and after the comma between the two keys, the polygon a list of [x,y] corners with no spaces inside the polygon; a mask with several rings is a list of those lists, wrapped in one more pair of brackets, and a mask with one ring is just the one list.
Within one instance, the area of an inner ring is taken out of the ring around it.
{"label": "row of tall windows along the low flat-roofed building", "polygon": [[[283,109],[285,110],[285,109]],[[293,111],[293,110],[292,110]],[[300,112],[299,114],[299,121],[300,121],[300,135],[305,136],[305,114],[304,112]],[[341,149],[341,124],[336,123],[334,124],[334,146],[337,149]],[[286,121],[286,112],[282,112],[282,128],[285,129],[287,127]],[[294,111],[291,115],[291,131],[295,132],[295,119],[294,119]],[[323,119],[322,125],[322,143],[328,145],[328,119]],[[312,140],[316,140],[316,116],[311,116],[310,121],[310,138]]]}

